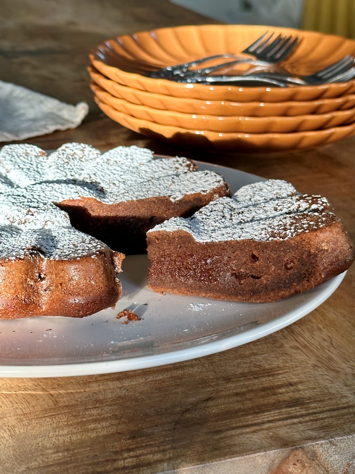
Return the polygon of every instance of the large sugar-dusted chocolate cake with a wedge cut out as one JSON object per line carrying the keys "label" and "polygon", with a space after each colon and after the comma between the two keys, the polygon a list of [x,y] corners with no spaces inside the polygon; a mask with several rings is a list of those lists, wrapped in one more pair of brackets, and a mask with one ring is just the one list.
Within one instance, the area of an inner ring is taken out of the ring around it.
{"label": "large sugar-dusted chocolate cake with a wedge cut out", "polygon": [[145,251],[155,223],[228,193],[219,174],[136,146],[101,154],[69,143],[49,156],[33,145],[4,146],[0,318],[82,317],[114,305],[124,255],[101,240]]}

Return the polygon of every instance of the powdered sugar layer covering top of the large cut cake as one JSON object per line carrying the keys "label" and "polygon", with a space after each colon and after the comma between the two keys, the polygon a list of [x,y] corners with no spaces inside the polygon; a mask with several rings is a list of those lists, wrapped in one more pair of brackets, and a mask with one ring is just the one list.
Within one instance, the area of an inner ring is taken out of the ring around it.
{"label": "powdered sugar layer covering top of the large cut cake", "polygon": [[94,198],[106,204],[208,193],[224,186],[222,176],[195,171],[186,158],[155,158],[151,150],[118,146],[106,153],[66,143],[51,155],[34,145],[0,151],[0,257],[39,253],[50,259],[79,258],[107,249],[71,227],[53,203]]}

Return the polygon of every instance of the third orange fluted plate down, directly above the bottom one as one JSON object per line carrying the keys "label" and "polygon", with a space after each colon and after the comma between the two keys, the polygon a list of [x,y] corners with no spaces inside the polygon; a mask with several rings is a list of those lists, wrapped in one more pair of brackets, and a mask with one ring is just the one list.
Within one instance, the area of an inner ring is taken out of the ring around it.
{"label": "third orange fluted plate down, directly above the bottom one", "polygon": [[333,128],[355,121],[355,108],[328,114],[300,115],[298,117],[216,117],[213,115],[183,114],[131,104],[123,99],[117,99],[95,83],[92,83],[90,87],[99,100],[118,112],[160,125],[188,130],[210,130],[225,133],[287,133]]}

